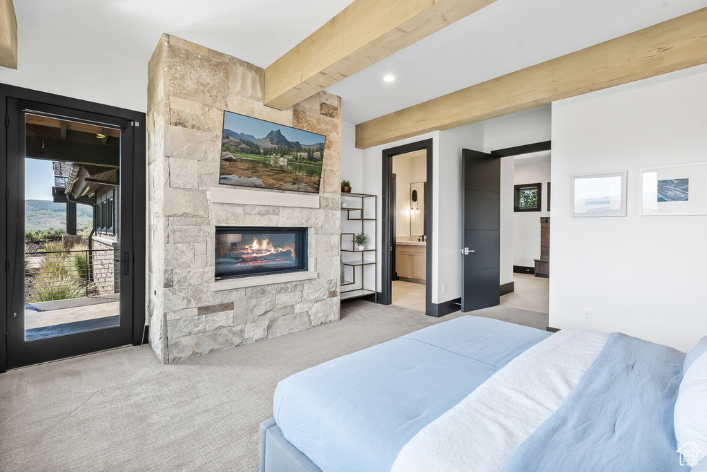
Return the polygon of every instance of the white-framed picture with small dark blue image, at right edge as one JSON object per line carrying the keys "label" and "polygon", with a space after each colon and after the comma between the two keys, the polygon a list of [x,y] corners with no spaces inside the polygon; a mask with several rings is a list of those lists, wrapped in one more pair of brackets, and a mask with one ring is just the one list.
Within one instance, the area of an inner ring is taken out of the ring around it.
{"label": "white-framed picture with small dark blue image, at right edge", "polygon": [[641,169],[641,216],[707,214],[707,163]]}

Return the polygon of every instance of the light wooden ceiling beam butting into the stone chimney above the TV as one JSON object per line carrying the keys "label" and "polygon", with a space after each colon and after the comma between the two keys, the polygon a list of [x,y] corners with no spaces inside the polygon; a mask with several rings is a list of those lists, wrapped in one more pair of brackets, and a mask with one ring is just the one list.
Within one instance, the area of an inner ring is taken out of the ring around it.
{"label": "light wooden ceiling beam butting into the stone chimney above the TV", "polygon": [[496,0],[354,0],[265,69],[284,110]]}

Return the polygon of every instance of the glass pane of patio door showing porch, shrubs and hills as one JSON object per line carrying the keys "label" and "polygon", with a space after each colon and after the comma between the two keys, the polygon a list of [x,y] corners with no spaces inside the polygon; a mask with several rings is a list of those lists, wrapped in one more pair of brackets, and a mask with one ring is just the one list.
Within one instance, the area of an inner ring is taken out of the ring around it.
{"label": "glass pane of patio door showing porch, shrubs and hills", "polygon": [[[25,115],[25,341],[119,326],[119,129]],[[69,159],[66,159],[69,158]]]}

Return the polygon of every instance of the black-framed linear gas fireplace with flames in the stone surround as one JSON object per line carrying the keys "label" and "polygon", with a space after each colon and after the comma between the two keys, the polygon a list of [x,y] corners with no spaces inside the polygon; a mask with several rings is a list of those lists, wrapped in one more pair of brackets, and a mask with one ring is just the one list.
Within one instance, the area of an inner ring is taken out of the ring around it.
{"label": "black-framed linear gas fireplace with flames in the stone surround", "polygon": [[307,270],[307,229],[216,226],[216,280]]}

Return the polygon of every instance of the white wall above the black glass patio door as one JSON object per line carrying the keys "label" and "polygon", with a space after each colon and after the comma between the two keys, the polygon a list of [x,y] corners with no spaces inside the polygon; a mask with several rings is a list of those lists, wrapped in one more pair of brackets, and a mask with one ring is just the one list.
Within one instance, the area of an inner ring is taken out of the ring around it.
{"label": "white wall above the black glass patio door", "polygon": [[[159,38],[155,38],[157,45]],[[112,54],[20,25],[18,69],[0,67],[0,82],[147,111],[147,62]]]}

